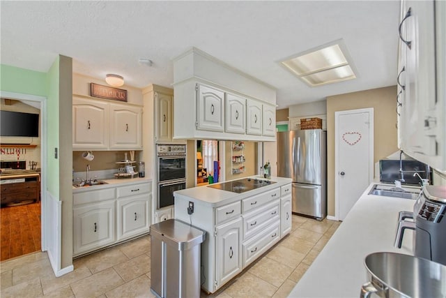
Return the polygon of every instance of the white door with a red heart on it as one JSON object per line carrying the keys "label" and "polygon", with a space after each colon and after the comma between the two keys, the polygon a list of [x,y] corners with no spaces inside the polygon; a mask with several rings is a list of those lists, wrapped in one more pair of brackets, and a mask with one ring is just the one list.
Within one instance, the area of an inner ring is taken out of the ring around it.
{"label": "white door with a red heart on it", "polygon": [[335,216],[342,221],[374,176],[374,109],[334,113]]}

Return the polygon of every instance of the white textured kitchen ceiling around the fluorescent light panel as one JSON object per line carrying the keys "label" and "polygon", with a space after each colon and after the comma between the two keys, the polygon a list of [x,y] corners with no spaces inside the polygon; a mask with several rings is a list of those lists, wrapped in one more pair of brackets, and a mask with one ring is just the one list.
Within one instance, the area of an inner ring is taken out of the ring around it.
{"label": "white textured kitchen ceiling around the fluorescent light panel", "polygon": [[[1,64],[171,87],[171,59],[190,47],[277,89],[278,108],[396,84],[399,1],[1,1]],[[357,79],[307,87],[276,61],[332,40]],[[153,66],[139,64],[153,60]]]}

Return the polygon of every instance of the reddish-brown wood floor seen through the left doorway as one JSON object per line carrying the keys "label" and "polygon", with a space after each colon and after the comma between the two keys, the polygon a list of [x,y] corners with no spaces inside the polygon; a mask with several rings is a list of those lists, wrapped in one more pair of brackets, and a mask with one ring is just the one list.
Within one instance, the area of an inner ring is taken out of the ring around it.
{"label": "reddish-brown wood floor seen through the left doorway", "polygon": [[40,251],[40,202],[0,208],[0,261]]}

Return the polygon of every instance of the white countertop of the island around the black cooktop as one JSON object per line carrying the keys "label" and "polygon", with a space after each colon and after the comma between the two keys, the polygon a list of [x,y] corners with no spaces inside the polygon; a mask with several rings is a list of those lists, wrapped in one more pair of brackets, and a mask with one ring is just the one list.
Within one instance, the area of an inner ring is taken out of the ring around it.
{"label": "white countertop of the island around the black cooktop", "polygon": [[[259,176],[249,177],[252,179],[261,179]],[[234,179],[238,180],[238,179]],[[235,202],[236,200],[242,200],[243,198],[250,197],[259,193],[264,193],[270,189],[274,189],[285,184],[291,183],[291,179],[282,177],[271,177],[270,181],[276,182],[275,184],[270,184],[268,186],[263,186],[261,188],[256,188],[252,191],[246,191],[245,193],[233,193],[231,191],[222,191],[217,188],[210,188],[208,186],[198,186],[194,188],[187,188],[181,191],[174,192],[175,198],[187,198],[200,201],[204,204],[210,204],[212,207],[219,207],[223,204],[229,204]],[[222,181],[224,183],[228,181]]]}

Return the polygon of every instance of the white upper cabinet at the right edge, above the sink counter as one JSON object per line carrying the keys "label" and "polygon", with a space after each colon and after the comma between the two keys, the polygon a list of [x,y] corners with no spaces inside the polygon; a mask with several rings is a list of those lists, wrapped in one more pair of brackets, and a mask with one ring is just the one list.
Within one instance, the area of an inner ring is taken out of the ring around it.
{"label": "white upper cabinet at the right edge, above the sink counter", "polygon": [[445,6],[402,1],[399,24],[399,147],[438,170],[446,170]]}

